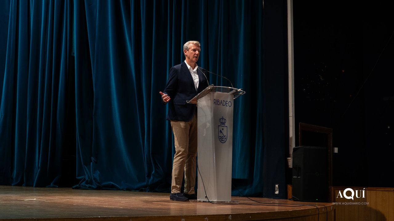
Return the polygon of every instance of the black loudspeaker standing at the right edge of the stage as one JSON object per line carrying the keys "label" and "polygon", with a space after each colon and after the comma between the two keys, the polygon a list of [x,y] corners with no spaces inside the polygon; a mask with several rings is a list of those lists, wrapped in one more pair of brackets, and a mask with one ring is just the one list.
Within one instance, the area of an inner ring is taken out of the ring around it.
{"label": "black loudspeaker standing at the right edge of the stage", "polygon": [[293,200],[328,202],[328,151],[326,147],[294,147],[292,172]]}

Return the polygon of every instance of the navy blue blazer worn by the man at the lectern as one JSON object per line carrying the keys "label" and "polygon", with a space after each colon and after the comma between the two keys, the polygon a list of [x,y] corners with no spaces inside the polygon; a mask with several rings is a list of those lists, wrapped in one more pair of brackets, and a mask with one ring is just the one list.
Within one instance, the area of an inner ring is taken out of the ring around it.
{"label": "navy blue blazer worn by the man at the lectern", "polygon": [[[202,68],[199,68],[200,70]],[[206,73],[202,73],[197,70],[199,77],[199,86],[197,91],[194,86],[193,77],[191,77],[188,66],[185,62],[173,66],[170,69],[167,85],[163,91],[164,94],[168,94],[171,100],[168,102],[169,109],[167,114],[167,120],[179,120],[179,121],[191,121],[196,111],[196,105],[186,103],[187,100],[191,100],[198,93],[208,87],[208,82],[204,76]]]}

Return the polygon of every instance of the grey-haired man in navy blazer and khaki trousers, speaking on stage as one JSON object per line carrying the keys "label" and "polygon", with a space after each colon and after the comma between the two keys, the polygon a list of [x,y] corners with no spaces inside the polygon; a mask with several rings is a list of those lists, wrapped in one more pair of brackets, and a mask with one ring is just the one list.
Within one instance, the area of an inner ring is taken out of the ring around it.
{"label": "grey-haired man in navy blazer and khaki trousers, speaking on stage", "polygon": [[[174,134],[175,155],[173,162],[170,199],[188,201],[197,199],[195,193],[197,156],[197,107],[187,103],[208,87],[208,81],[197,66],[200,42],[188,41],[183,46],[185,61],[170,69],[167,85],[162,95],[163,104],[169,104],[167,120],[171,121]],[[185,174],[184,193],[181,193]]]}

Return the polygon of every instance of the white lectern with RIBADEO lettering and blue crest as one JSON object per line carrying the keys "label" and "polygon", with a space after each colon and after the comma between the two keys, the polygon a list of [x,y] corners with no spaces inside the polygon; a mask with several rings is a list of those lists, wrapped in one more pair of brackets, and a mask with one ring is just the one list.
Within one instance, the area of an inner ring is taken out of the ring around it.
{"label": "white lectern with RIBADEO lettering and blue crest", "polygon": [[245,92],[210,85],[188,103],[197,104],[197,201],[231,202],[234,99]]}

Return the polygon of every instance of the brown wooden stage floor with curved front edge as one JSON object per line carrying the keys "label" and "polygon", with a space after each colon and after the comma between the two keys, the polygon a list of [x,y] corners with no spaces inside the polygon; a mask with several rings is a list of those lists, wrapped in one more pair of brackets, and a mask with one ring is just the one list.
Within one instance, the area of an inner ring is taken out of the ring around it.
{"label": "brown wooden stage floor with curved front edge", "polygon": [[211,204],[170,201],[169,193],[0,186],[0,221],[325,221],[335,216],[332,203],[314,203],[316,208],[296,205],[311,204],[305,202],[251,199],[263,204],[246,197],[232,197],[239,204]]}

